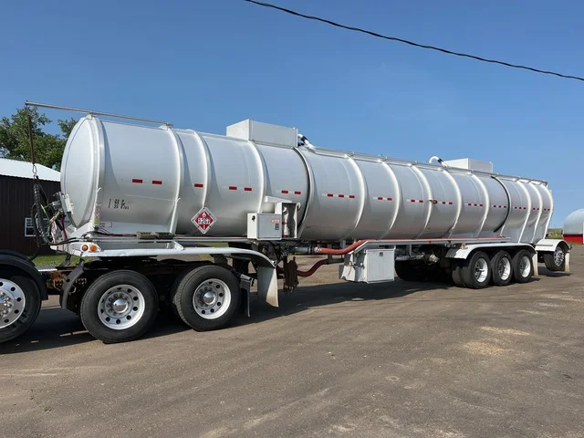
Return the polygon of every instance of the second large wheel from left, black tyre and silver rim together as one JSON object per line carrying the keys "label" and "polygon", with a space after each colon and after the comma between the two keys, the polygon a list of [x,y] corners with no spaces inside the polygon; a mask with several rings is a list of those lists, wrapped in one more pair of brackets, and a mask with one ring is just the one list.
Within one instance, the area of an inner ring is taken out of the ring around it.
{"label": "second large wheel from left, black tyre and silver rim together", "polygon": [[111,271],[95,280],[81,299],[80,315],[89,333],[112,344],[140,338],[158,312],[158,294],[141,274]]}

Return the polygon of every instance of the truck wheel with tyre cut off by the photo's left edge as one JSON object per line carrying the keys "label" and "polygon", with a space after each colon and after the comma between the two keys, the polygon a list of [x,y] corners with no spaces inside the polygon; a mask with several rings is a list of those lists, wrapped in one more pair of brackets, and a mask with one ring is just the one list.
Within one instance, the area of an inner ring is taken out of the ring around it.
{"label": "truck wheel with tyre cut off by the photo's left edge", "polygon": [[0,343],[22,335],[40,312],[40,291],[21,270],[0,268]]}

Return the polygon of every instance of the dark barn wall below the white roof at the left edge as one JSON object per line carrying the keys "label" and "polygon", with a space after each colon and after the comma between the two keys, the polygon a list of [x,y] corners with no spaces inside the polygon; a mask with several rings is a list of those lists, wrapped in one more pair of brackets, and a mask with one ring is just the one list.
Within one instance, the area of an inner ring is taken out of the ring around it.
{"label": "dark barn wall below the white roof at the left edge", "polygon": [[[42,181],[41,184],[48,197],[60,191],[57,182]],[[32,180],[0,175],[0,249],[24,255],[35,252],[35,237],[25,236],[25,218],[30,217],[33,202]],[[50,248],[45,248],[44,253],[50,254]]]}

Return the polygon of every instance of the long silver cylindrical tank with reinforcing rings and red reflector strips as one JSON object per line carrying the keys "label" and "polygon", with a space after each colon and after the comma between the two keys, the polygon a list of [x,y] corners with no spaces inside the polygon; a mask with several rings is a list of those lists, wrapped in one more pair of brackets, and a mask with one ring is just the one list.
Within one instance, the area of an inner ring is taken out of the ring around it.
{"label": "long silver cylindrical tank with reinforcing rings and red reflector strips", "polygon": [[203,235],[192,220],[206,207],[205,235],[243,236],[272,197],[300,204],[302,240],[545,236],[545,182],[298,147],[296,130],[267,126],[223,136],[82,118],[61,167],[72,228]]}

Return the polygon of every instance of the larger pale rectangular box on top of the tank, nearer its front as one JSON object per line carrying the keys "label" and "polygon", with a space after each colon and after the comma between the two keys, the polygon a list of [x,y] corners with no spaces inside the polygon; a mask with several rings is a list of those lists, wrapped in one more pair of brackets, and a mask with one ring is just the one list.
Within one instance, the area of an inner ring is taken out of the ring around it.
{"label": "larger pale rectangular box on top of the tank, nearer its front", "polygon": [[227,127],[227,137],[276,144],[296,148],[298,130],[286,126],[271,125],[255,120],[243,120]]}

